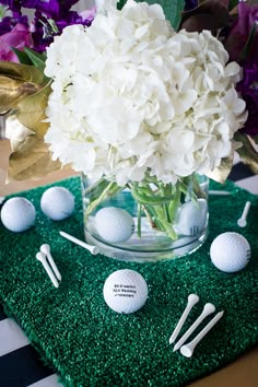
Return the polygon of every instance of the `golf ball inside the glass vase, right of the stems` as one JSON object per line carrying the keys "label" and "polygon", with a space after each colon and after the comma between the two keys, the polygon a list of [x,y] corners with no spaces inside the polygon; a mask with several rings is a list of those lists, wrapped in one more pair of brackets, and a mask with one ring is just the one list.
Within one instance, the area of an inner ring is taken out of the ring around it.
{"label": "golf ball inside the glass vase, right of the stems", "polygon": [[204,199],[198,199],[197,204],[188,201],[181,206],[177,220],[177,232],[183,235],[196,236],[207,224],[208,204]]}

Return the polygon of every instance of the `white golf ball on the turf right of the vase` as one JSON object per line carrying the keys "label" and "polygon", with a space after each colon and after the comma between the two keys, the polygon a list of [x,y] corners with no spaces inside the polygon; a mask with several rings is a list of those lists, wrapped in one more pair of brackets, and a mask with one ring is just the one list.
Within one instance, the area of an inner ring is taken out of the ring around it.
{"label": "white golf ball on the turf right of the vase", "polygon": [[250,259],[250,245],[237,233],[223,233],[211,244],[210,256],[221,271],[235,272],[244,269]]}

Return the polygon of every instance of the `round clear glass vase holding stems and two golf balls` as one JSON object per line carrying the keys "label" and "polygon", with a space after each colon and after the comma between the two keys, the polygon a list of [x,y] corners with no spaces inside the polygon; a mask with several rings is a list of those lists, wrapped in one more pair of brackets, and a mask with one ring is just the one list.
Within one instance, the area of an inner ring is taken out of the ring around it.
{"label": "round clear glass vase holding stems and two golf balls", "polygon": [[195,251],[207,238],[206,176],[192,174],[175,185],[153,177],[125,187],[108,178],[92,183],[84,175],[81,181],[85,239],[107,257],[172,259]]}

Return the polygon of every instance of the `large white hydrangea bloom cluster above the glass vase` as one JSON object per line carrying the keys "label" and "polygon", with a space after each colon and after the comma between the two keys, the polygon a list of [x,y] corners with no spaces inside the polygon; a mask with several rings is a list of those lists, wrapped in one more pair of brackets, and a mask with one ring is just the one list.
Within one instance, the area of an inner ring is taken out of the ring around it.
{"label": "large white hydrangea bloom cluster above the glass vase", "polygon": [[175,33],[157,4],[114,3],[91,27],[64,28],[47,50],[54,157],[119,185],[146,173],[174,184],[212,171],[246,120],[238,64],[208,31]]}

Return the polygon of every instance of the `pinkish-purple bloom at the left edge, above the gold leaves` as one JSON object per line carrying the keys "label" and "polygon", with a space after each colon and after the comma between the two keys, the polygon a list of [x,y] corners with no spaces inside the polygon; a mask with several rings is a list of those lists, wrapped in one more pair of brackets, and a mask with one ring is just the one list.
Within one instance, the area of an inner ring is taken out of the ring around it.
{"label": "pinkish-purple bloom at the left edge, above the gold leaves", "polygon": [[12,47],[17,49],[32,47],[32,37],[25,25],[17,23],[11,32],[0,36],[0,60],[19,61]]}

